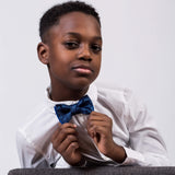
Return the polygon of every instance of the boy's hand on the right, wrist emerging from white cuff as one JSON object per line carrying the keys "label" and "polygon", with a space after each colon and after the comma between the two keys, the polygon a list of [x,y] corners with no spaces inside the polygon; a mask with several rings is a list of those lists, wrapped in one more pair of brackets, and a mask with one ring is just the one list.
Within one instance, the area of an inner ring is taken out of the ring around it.
{"label": "boy's hand on the right, wrist emerging from white cuff", "polygon": [[101,113],[92,112],[88,120],[88,132],[96,143],[98,150],[114,161],[121,163],[126,159],[122,147],[117,145],[113,140],[112,119]]}

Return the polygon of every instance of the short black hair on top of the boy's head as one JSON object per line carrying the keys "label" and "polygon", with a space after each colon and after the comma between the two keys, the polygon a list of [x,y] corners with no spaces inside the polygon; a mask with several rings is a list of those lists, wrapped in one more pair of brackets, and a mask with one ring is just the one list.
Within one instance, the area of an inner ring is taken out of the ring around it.
{"label": "short black hair on top of the boy's head", "polygon": [[63,14],[74,12],[74,11],[93,15],[97,20],[101,26],[100,15],[92,5],[86,4],[85,2],[81,2],[81,1],[68,1],[68,2],[60,3],[60,4],[56,4],[44,13],[39,22],[40,39],[44,42],[44,36],[46,32],[51,26],[57,25],[59,23],[60,18]]}

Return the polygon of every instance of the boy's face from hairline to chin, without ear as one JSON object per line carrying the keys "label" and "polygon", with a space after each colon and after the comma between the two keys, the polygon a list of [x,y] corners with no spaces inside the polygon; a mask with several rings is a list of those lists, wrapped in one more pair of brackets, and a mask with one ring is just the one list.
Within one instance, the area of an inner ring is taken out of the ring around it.
{"label": "boy's face from hairline to chin, without ear", "polygon": [[81,12],[60,18],[48,32],[48,65],[51,85],[81,90],[97,77],[102,36],[96,19]]}

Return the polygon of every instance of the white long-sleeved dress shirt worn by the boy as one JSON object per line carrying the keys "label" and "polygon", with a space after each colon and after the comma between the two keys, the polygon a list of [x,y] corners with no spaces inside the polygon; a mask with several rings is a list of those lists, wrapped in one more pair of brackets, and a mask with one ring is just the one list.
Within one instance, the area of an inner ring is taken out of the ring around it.
{"label": "white long-sleeved dress shirt worn by the boy", "polygon": [[[154,120],[145,106],[137,101],[128,89],[97,89],[92,84],[86,93],[94,110],[105,114],[113,120],[113,139],[127,154],[122,165],[167,166],[170,165],[165,144]],[[40,109],[30,117],[30,121],[19,128],[16,133],[18,152],[22,167],[70,167],[50,142],[58,128],[55,114],[56,104],[74,104],[77,101],[54,102],[49,98]],[[102,154],[88,135],[88,115],[74,115],[71,122],[77,124],[79,144],[82,154],[94,162],[118,165]]]}

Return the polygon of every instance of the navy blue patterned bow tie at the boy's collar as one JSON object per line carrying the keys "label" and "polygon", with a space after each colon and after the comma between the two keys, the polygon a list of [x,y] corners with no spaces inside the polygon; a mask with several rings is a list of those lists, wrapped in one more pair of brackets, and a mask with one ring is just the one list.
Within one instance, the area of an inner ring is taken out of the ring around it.
{"label": "navy blue patterned bow tie at the boy's collar", "polygon": [[77,104],[58,104],[54,108],[61,124],[69,122],[75,114],[90,114],[94,110],[94,106],[88,95],[83,96]]}

